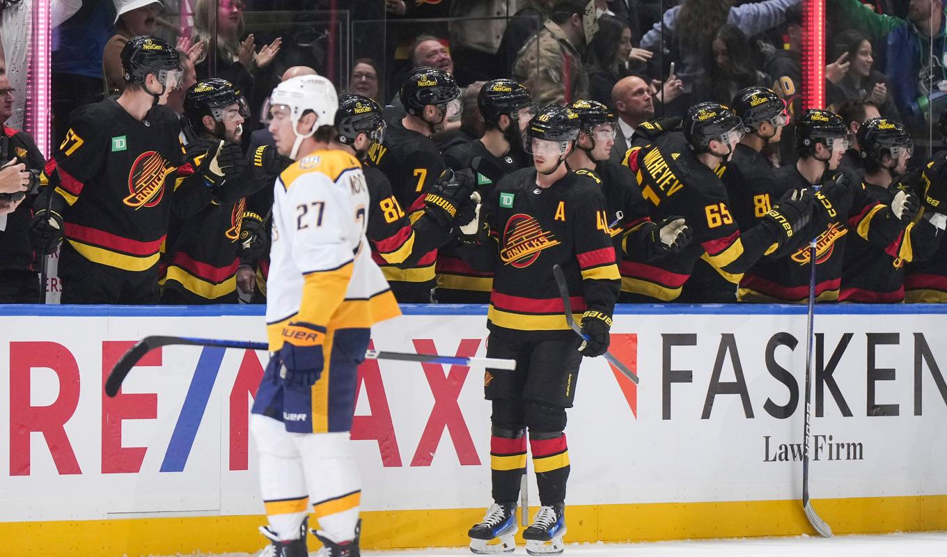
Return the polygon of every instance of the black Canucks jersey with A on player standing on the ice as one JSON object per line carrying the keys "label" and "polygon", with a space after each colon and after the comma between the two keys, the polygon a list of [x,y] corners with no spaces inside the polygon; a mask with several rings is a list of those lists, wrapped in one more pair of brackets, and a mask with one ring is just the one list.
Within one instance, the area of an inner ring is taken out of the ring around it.
{"label": "black Canucks jersey with A on player standing on the ice", "polygon": [[496,184],[482,210],[490,239],[458,252],[474,268],[493,270],[491,332],[536,339],[575,334],[552,275],[557,263],[577,321],[585,310],[613,313],[619,275],[595,180],[568,172],[544,189],[536,185],[536,169],[515,171]]}

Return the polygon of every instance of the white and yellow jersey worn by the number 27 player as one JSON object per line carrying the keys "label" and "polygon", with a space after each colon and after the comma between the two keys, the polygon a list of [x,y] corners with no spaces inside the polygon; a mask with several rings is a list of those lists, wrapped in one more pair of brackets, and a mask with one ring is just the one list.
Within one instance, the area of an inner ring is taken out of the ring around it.
{"label": "white and yellow jersey worn by the number 27 player", "polygon": [[358,160],[316,151],[274,186],[266,324],[270,350],[282,326],[370,328],[401,314],[366,241],[368,189]]}

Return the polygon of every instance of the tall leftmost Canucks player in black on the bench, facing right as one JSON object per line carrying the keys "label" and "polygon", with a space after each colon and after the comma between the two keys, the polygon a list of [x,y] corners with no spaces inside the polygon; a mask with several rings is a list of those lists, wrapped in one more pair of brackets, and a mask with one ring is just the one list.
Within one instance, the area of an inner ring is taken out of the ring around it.
{"label": "tall leftmost Canucks player in black on the bench, facing right", "polygon": [[[158,301],[158,259],[172,197],[186,175],[178,118],[161,102],[181,80],[177,50],[138,36],[121,51],[126,87],[72,113],[34,202],[34,249],[65,239],[63,303]],[[180,167],[180,168],[179,168]]]}

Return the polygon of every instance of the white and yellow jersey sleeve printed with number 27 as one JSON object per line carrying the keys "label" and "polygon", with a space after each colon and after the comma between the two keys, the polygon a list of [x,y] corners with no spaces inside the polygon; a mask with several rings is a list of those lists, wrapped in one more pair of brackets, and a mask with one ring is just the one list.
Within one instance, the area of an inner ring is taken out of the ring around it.
{"label": "white and yellow jersey sleeve printed with number 27", "polygon": [[325,331],[345,299],[355,266],[344,232],[351,227],[353,207],[349,206],[338,187],[318,172],[296,178],[286,192],[280,209],[287,213],[283,220],[292,230],[293,257],[304,277],[295,323]]}

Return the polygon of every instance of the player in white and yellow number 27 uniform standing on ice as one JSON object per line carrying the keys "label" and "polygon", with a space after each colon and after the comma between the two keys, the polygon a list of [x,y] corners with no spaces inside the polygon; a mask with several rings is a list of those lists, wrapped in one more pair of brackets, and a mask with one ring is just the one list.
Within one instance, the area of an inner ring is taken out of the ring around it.
{"label": "player in white and yellow number 27 uniform standing on ice", "polygon": [[331,149],[338,99],[301,76],[270,99],[270,132],[295,163],[274,186],[266,323],[272,358],[251,429],[271,544],[267,557],[306,557],[307,515],[320,557],[358,557],[361,484],[349,447],[356,369],[370,327],[400,314],[371,261],[368,191],[358,160]]}

